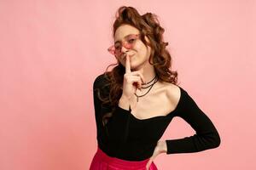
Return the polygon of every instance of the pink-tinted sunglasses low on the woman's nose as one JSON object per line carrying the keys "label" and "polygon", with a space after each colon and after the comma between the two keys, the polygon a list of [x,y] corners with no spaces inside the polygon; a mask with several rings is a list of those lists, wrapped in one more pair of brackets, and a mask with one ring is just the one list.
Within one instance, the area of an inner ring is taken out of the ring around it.
{"label": "pink-tinted sunglasses low on the woman's nose", "polygon": [[136,40],[139,38],[140,38],[140,34],[130,34],[125,37],[125,40],[123,40],[121,44],[120,42],[115,42],[114,45],[108,48],[108,52],[115,56],[120,56],[122,54],[121,52],[122,46],[124,46],[127,49],[131,49],[133,48]]}

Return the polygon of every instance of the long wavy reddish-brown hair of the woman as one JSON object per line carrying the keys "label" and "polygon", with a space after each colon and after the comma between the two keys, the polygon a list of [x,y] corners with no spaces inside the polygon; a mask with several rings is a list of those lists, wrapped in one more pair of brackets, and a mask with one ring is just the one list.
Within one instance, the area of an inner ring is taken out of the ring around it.
{"label": "long wavy reddish-brown hair of the woman", "polygon": [[[151,48],[148,62],[150,65],[154,65],[154,71],[159,77],[159,81],[177,84],[177,71],[171,71],[172,57],[166,49],[168,42],[163,41],[165,29],[160,26],[157,15],[152,13],[140,15],[136,8],[122,6],[118,9],[116,20],[113,23],[113,37],[118,27],[123,24],[136,27],[140,31],[142,42]],[[148,37],[149,42],[145,40],[144,36]],[[153,63],[150,62],[151,58],[153,58]],[[108,67],[113,65],[116,65],[113,70],[108,71]],[[125,67],[120,64],[118,59],[116,64],[108,65],[108,67],[103,75],[108,82],[101,87],[102,89],[108,88],[107,95],[102,97],[101,90],[97,89],[97,96],[102,100],[102,105],[108,105],[108,108],[112,110],[102,115],[103,126],[113,115],[113,111],[119,103],[125,74]]]}

